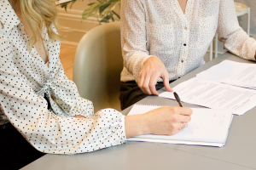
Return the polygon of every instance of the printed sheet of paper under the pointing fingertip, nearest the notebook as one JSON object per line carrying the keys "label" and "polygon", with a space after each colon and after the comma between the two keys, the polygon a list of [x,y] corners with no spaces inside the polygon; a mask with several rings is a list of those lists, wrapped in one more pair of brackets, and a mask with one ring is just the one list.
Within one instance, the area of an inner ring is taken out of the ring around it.
{"label": "printed sheet of paper under the pointing fingertip, nearest the notebook", "polygon": [[[212,109],[230,109],[235,115],[243,115],[256,105],[256,90],[197,77],[178,84],[173,90],[183,102]],[[160,97],[175,99],[172,92],[164,92]]]}

